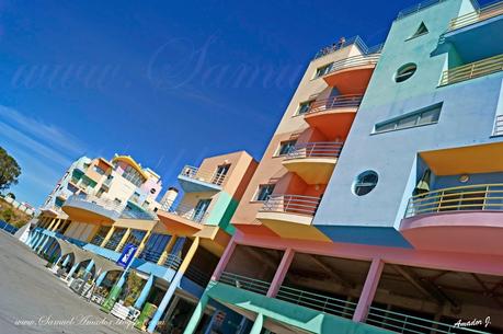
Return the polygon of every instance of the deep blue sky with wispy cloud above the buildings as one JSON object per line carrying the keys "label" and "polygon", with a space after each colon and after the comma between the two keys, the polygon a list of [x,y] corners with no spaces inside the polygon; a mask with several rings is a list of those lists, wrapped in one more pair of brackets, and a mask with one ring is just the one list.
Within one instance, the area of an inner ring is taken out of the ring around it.
{"label": "deep blue sky with wispy cloud above the buildings", "polygon": [[260,159],[313,54],[384,42],[407,1],[0,1],[0,146],[41,205],[82,154]]}

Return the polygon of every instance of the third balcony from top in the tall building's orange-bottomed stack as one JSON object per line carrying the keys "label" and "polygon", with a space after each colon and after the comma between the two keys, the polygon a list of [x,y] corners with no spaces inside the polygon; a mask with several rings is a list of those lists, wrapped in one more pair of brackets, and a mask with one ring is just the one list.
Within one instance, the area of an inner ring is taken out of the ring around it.
{"label": "third balcony from top in the tall building's orange-bottomed stack", "polygon": [[296,146],[283,165],[307,184],[328,184],[341,153],[342,142],[319,141]]}

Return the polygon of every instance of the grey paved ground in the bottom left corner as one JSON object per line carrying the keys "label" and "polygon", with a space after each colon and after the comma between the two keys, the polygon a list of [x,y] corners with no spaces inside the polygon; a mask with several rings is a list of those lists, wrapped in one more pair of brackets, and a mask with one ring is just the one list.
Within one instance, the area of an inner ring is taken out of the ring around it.
{"label": "grey paved ground in the bottom left corner", "polygon": [[78,297],[45,264],[0,231],[0,334],[145,333]]}

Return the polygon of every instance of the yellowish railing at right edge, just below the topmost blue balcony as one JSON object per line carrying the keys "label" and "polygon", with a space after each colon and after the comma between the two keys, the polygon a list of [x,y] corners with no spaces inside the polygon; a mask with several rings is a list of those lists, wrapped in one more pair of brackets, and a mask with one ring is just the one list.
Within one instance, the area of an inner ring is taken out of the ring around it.
{"label": "yellowish railing at right edge, just below the topmost blue balcony", "polygon": [[503,55],[455,67],[442,73],[441,84],[447,85],[503,70]]}

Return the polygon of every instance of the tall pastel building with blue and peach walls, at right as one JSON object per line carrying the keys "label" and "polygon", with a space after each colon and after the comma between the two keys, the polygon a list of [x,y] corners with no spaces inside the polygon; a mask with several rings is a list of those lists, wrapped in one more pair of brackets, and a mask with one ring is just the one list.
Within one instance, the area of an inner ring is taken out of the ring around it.
{"label": "tall pastel building with blue and peach walls, at right", "polygon": [[184,333],[207,303],[239,333],[503,333],[502,32],[502,2],[427,1],[323,49]]}

